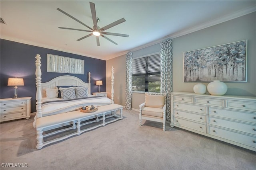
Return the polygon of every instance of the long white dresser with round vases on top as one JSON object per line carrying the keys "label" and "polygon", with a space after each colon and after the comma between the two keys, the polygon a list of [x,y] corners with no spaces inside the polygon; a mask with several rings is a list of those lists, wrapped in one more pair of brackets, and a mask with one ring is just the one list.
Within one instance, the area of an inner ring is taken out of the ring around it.
{"label": "long white dresser with round vases on top", "polygon": [[171,94],[171,127],[256,151],[256,97]]}

